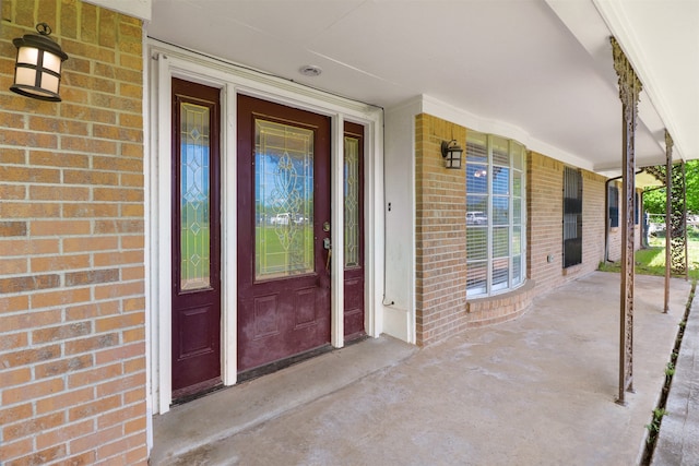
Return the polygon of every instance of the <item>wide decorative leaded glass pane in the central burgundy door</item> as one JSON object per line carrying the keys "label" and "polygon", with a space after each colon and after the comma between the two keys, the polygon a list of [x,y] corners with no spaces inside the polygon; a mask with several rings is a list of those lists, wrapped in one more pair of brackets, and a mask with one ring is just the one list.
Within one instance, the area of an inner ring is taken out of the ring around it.
{"label": "wide decorative leaded glass pane in the central burgundy door", "polygon": [[315,272],[313,131],[256,120],[254,277]]}

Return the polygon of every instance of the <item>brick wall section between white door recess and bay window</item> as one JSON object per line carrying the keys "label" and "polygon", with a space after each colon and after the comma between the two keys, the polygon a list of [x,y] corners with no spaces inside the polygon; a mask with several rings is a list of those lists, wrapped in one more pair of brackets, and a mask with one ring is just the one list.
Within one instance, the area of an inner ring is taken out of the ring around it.
{"label": "brick wall section between white door recess and bay window", "polygon": [[465,147],[466,130],[415,118],[416,340],[426,345],[467,326],[465,170],[445,168],[441,142]]}

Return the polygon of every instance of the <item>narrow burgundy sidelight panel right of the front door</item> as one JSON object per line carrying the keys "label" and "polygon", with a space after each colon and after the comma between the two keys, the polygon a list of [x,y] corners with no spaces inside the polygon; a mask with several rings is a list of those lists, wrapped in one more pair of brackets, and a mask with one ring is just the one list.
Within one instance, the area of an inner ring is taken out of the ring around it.
{"label": "narrow burgundy sidelight panel right of the front door", "polygon": [[345,122],[344,134],[344,336],[364,328],[364,127]]}

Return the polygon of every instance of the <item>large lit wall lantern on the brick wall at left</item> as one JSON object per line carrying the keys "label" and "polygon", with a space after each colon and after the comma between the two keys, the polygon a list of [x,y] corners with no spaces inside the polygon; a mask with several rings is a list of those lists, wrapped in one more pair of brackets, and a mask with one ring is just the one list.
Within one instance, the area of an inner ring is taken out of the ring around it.
{"label": "large lit wall lantern on the brick wall at left", "polygon": [[12,40],[17,48],[14,65],[14,84],[10,91],[39,100],[61,101],[58,86],[61,83],[61,64],[68,55],[48,36],[51,27],[36,25],[38,34],[25,34]]}

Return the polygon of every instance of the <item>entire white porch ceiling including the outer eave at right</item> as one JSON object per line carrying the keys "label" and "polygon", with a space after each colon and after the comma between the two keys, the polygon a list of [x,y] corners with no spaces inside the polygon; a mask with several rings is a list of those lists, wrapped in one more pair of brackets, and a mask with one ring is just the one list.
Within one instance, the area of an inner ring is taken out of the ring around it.
{"label": "entire white porch ceiling including the outer eave at right", "polygon": [[[699,158],[699,0],[153,0],[150,37],[391,108],[419,95],[617,175],[608,37],[639,74],[637,166]],[[306,64],[323,70],[307,77]],[[477,129],[477,128],[475,128]],[[503,134],[508,136],[508,134]],[[549,154],[550,155],[550,154]]]}

